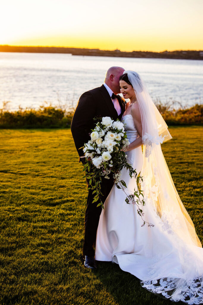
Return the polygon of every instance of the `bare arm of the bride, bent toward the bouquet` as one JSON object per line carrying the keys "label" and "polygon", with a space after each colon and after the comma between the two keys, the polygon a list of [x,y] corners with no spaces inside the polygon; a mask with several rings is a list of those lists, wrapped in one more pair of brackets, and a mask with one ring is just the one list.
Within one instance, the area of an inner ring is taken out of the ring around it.
{"label": "bare arm of the bride, bent toward the bouquet", "polygon": [[131,109],[131,116],[133,117],[135,128],[137,129],[139,137],[135,141],[131,142],[125,151],[135,149],[142,145],[142,120],[137,102]]}

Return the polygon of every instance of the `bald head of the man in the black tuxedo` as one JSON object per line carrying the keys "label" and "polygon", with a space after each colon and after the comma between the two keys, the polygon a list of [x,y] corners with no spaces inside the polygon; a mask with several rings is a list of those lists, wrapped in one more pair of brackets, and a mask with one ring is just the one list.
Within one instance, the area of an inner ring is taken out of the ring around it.
{"label": "bald head of the man in the black tuxedo", "polygon": [[106,72],[104,82],[115,94],[120,93],[119,77],[124,71],[124,68],[114,66],[110,67]]}

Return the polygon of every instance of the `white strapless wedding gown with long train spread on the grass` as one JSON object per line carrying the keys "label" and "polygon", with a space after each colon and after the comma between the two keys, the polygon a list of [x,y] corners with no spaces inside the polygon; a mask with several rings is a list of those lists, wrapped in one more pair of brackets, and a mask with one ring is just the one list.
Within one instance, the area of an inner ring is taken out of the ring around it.
{"label": "white strapless wedding gown with long train spread on the grass", "polygon": [[[126,123],[129,142],[133,142],[139,136],[133,118],[129,114],[124,116],[123,120]],[[128,151],[127,156],[128,162],[139,173],[143,167],[141,146]],[[134,193],[135,179],[130,179],[125,168],[121,171],[121,179],[126,182],[125,191]],[[151,196],[153,194],[151,192]],[[160,217],[158,210],[146,202],[142,208],[143,218],[154,224],[154,227],[148,227],[147,224],[141,226],[143,221],[137,213],[137,206],[127,204],[125,198],[124,191],[114,185],[100,215],[95,259],[119,264],[122,270],[139,278],[142,287],[172,301],[202,304],[201,246],[191,242],[190,237],[181,238],[181,235],[184,235],[181,231],[183,228],[180,228],[181,220],[179,222],[175,219],[173,208],[167,217],[164,213]],[[170,204],[170,201],[168,202]],[[184,211],[182,213],[186,214]],[[168,217],[171,217],[171,222]]]}

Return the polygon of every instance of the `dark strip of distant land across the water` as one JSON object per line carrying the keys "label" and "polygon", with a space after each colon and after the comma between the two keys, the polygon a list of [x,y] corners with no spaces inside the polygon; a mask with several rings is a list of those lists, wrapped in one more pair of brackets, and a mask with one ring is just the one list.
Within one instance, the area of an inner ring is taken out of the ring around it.
{"label": "dark strip of distant land across the water", "polygon": [[109,56],[109,57],[131,57],[131,58],[169,58],[169,59],[196,59],[203,60],[203,51],[164,51],[164,52],[144,52],[132,51],[123,52],[120,50],[108,51],[100,49],[86,48],[66,48],[66,47],[29,47],[0,45],[0,52],[22,52],[22,53],[59,53],[80,56]]}

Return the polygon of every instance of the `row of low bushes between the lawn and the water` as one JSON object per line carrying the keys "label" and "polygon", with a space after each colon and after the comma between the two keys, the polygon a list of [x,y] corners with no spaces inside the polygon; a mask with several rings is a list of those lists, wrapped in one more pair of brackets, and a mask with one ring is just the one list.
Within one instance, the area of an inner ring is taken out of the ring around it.
{"label": "row of low bushes between the lawn and the water", "polygon": [[[175,109],[172,104],[156,102],[156,106],[168,125],[203,124],[203,105]],[[0,109],[0,128],[69,128],[74,109],[62,109],[57,106],[41,106],[39,109],[21,109],[16,111]]]}

